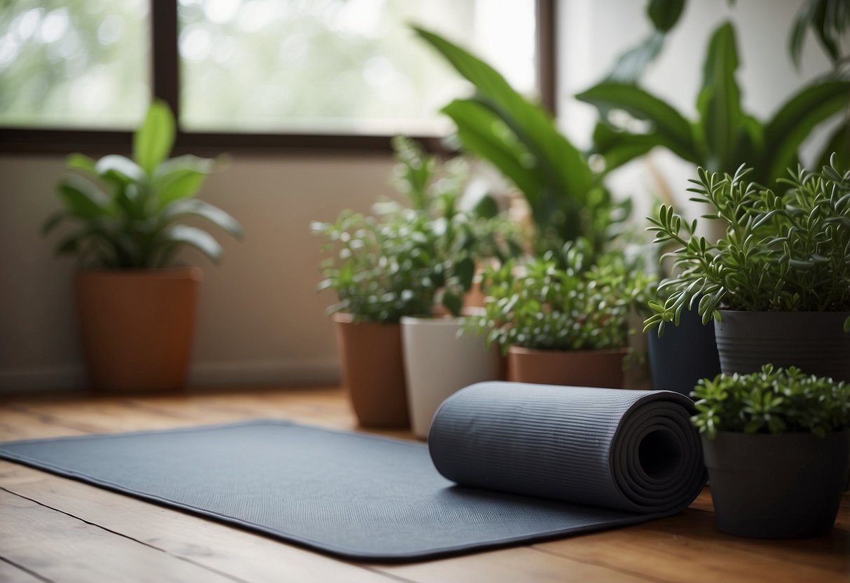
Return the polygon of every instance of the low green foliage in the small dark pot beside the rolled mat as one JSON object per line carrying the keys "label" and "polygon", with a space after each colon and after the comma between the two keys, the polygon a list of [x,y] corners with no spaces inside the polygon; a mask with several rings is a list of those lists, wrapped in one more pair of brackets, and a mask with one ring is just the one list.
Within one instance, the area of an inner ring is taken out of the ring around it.
{"label": "low green foliage in the small dark pot beside the rolled mat", "polygon": [[804,375],[794,367],[762,366],[749,375],[702,379],[691,396],[700,433],[827,433],[850,427],[850,385]]}

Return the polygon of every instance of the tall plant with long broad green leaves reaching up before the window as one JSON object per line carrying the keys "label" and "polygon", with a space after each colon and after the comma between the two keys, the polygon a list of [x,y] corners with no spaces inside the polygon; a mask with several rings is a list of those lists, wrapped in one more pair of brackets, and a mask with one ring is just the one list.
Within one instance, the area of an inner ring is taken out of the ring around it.
{"label": "tall plant with long broad green leaves reaching up before the window", "polygon": [[538,233],[538,252],[584,239],[603,252],[631,210],[615,202],[587,158],[558,132],[546,110],[513,89],[483,60],[445,38],[415,28],[475,88],[442,111],[462,147],[490,162],[524,194]]}

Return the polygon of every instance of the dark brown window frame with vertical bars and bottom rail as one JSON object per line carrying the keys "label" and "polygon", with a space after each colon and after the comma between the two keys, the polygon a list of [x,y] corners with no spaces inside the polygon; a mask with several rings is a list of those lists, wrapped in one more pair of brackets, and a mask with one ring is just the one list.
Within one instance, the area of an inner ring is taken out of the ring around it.
{"label": "dark brown window frame with vertical bars and bottom rail", "polygon": [[[537,80],[541,105],[553,116],[557,104],[556,5],[558,0],[535,0]],[[360,155],[392,151],[388,135],[345,133],[222,133],[187,132],[179,126],[179,50],[177,0],[151,0],[151,93],[171,106],[178,120],[175,154],[218,156],[224,152],[252,154]],[[431,151],[445,152],[442,139],[411,136]],[[127,130],[87,130],[0,126],[2,154],[89,154],[129,152],[133,133]]]}

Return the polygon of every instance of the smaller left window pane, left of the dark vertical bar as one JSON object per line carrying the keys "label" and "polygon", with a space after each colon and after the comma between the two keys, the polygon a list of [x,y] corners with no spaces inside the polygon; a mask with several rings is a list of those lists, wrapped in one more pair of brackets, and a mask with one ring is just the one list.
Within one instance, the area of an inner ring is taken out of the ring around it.
{"label": "smaller left window pane, left of the dark vertical bar", "polygon": [[0,125],[139,123],[150,96],[146,0],[0,6]]}

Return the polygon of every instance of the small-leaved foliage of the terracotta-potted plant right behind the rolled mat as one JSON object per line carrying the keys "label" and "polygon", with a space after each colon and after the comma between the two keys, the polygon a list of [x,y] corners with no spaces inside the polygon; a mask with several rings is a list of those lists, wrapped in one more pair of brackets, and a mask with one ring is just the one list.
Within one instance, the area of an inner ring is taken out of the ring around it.
{"label": "small-leaved foliage of the terracotta-potted plant right behind the rolled mat", "polygon": [[[467,330],[485,335],[503,353],[517,345],[543,350],[624,348],[626,316],[648,283],[627,269],[621,256],[607,254],[589,264],[581,243],[568,246],[561,261],[549,252],[527,265],[511,261],[484,274],[484,314]],[[560,267],[566,265],[565,268]]]}

